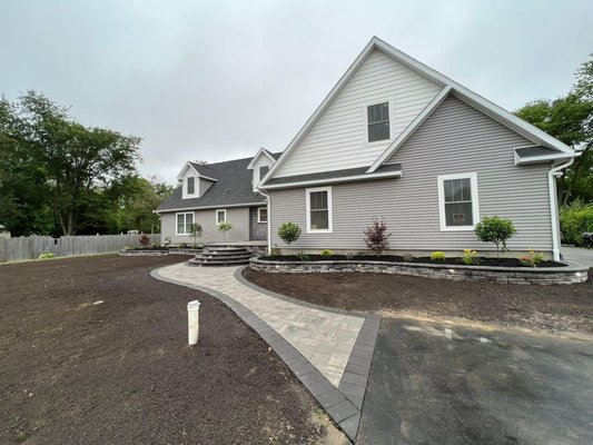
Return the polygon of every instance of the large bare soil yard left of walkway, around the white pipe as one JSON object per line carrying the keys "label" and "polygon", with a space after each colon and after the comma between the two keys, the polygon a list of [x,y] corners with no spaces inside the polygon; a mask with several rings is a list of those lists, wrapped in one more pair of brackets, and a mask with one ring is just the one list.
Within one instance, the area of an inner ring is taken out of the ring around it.
{"label": "large bare soil yard left of walkway, around the white pipe", "polygon": [[[1,444],[310,444],[337,434],[221,303],[149,277],[172,263],[0,266]],[[196,298],[200,339],[189,348]]]}

